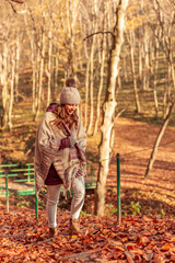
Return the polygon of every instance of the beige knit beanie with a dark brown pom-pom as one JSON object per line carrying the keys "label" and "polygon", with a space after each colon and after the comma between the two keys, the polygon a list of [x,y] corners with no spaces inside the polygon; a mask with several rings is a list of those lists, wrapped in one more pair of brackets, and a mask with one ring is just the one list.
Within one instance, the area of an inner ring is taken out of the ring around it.
{"label": "beige knit beanie with a dark brown pom-pom", "polygon": [[80,104],[80,93],[74,79],[66,80],[66,88],[60,93],[60,104]]}

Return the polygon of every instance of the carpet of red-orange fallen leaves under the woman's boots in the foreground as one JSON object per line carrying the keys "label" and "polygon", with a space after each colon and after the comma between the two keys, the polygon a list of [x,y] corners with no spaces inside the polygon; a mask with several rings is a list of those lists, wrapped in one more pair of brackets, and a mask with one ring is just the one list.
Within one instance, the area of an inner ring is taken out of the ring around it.
{"label": "carpet of red-orange fallen leaves under the woman's boots in the foreground", "polygon": [[48,239],[39,210],[0,207],[0,262],[175,262],[174,219],[128,216],[82,217],[84,235],[69,236],[69,213],[58,211],[58,235]]}

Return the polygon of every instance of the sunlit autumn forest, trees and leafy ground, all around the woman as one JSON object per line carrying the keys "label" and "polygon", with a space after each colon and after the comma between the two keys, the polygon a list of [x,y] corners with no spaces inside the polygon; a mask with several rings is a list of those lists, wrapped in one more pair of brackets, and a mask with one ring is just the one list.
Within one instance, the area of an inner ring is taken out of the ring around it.
{"label": "sunlit autumn forest, trees and leafy ground, all around the woman", "polygon": [[86,191],[81,239],[63,230],[69,201],[50,241],[46,190],[39,220],[34,196],[11,195],[9,213],[0,196],[0,260],[175,262],[175,1],[1,0],[0,10],[0,163],[34,162],[38,123],[73,77],[97,182]]}

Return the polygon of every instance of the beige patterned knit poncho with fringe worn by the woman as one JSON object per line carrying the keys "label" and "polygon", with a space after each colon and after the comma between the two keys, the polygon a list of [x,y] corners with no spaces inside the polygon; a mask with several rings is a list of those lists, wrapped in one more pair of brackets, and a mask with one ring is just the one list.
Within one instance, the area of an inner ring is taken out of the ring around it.
{"label": "beige patterned knit poncho with fringe worn by the woman", "polygon": [[[35,185],[36,192],[44,186],[48,170],[54,164],[57,173],[63,182],[66,188],[70,188],[71,179],[81,169],[83,176],[86,174],[85,146],[86,134],[81,123],[78,121],[78,129],[74,125],[72,130],[66,127],[65,130],[59,129],[51,122],[55,119],[52,112],[46,112],[43,116],[35,140]],[[59,150],[62,138],[72,136],[77,144],[74,147]]]}

